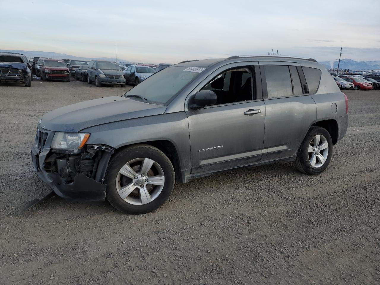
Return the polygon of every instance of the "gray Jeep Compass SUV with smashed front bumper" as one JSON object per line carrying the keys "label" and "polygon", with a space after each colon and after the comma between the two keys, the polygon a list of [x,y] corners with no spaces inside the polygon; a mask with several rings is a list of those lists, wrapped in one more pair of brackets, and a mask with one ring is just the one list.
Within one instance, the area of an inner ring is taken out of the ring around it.
{"label": "gray Jeep Compass SUV with smashed front bumper", "polygon": [[346,133],[347,97],[313,59],[255,56],[185,61],[122,97],[56,109],[38,122],[38,175],[57,195],[153,211],[174,182],[294,161],[330,163]]}

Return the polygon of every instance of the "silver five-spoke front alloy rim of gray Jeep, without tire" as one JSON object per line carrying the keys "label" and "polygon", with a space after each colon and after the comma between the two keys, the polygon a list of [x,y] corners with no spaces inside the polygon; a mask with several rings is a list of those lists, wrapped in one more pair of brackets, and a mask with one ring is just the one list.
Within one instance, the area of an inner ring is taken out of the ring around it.
{"label": "silver five-spoke front alloy rim of gray Jeep, without tire", "polygon": [[156,199],[165,184],[161,166],[149,158],[128,161],[116,177],[116,190],[120,198],[133,205],[143,205]]}

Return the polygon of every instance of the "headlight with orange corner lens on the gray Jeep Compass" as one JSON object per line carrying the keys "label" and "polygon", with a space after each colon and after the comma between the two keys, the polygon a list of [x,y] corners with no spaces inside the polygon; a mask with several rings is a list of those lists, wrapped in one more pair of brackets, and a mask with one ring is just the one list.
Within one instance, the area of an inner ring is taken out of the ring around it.
{"label": "headlight with orange corner lens on the gray Jeep Compass", "polygon": [[86,144],[89,133],[55,133],[51,147],[53,149],[80,149]]}

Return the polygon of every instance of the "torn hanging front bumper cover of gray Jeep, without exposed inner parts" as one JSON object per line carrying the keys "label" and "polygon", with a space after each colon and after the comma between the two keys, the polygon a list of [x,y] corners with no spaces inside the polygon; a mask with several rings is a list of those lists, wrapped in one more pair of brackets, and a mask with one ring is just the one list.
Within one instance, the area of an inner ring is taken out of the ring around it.
{"label": "torn hanging front bumper cover of gray Jeep, without exposed inner parts", "polygon": [[[32,163],[37,175],[60,197],[69,201],[93,202],[104,201],[106,198],[106,184],[97,182],[80,173],[74,177],[70,184],[65,184],[59,179],[59,175],[47,173],[43,170],[44,161],[51,149],[44,149],[40,153],[35,147],[30,149]],[[109,159],[109,158],[108,158]],[[108,164],[108,161],[106,165]],[[100,171],[100,169],[98,169]]]}

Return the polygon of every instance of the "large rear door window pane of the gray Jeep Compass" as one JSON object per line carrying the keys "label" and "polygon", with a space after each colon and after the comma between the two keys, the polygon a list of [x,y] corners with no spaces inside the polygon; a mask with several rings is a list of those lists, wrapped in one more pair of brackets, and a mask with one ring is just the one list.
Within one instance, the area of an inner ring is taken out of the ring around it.
{"label": "large rear door window pane of the gray Jeep Compass", "polygon": [[293,96],[287,65],[264,65],[268,98]]}

